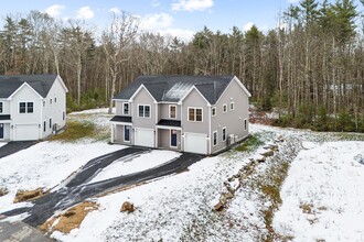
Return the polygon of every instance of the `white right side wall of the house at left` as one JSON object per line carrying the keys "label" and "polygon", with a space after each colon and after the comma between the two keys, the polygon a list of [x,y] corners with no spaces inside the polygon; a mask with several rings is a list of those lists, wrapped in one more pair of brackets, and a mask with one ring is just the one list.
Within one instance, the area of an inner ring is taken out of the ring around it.
{"label": "white right side wall of the house at left", "polygon": [[[52,103],[51,103],[52,100]],[[43,105],[44,103],[44,105]],[[66,125],[66,92],[64,91],[58,78],[54,81],[49,95],[42,100],[42,138],[52,134],[53,125],[56,124],[57,130]],[[64,113],[64,114],[63,114]],[[64,116],[64,120],[63,120]],[[52,119],[52,127],[50,128],[50,119]],[[46,129],[44,132],[44,121]]]}

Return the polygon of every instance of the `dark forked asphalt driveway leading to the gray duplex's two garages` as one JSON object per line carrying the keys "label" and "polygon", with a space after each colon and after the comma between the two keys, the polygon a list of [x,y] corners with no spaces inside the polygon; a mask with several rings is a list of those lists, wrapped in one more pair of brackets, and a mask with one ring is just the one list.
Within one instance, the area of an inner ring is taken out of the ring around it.
{"label": "dark forked asphalt driveway leading to the gray duplex's two garages", "polygon": [[204,155],[183,153],[178,158],[147,170],[87,184],[101,168],[108,166],[114,161],[128,161],[150,151],[151,148],[132,146],[94,158],[79,169],[64,187],[34,200],[33,207],[14,209],[3,215],[11,217],[28,212],[30,216],[23,222],[32,227],[38,227],[44,223],[57,210],[65,210],[87,198],[109,190],[125,188],[130,185],[184,172],[190,165],[205,157]]}

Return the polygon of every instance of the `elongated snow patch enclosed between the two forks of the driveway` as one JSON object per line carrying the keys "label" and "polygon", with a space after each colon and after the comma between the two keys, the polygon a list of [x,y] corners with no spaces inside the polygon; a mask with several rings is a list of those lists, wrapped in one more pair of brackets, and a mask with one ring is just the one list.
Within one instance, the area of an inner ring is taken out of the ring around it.
{"label": "elongated snow patch enclosed between the two forks of the driveway", "polygon": [[97,174],[97,176],[95,176],[89,184],[150,169],[179,156],[181,156],[181,153],[154,150],[150,153],[141,154],[139,157],[132,158],[131,161],[124,162],[124,158],[116,160],[113,164],[108,165],[99,174]]}

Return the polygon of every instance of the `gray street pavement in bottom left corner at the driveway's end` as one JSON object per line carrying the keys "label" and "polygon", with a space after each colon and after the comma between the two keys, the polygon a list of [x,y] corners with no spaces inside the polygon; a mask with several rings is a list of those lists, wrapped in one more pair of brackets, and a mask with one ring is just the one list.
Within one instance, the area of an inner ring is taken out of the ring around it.
{"label": "gray street pavement in bottom left corner at the driveway's end", "polygon": [[0,215],[0,241],[2,242],[51,242],[53,240],[43,235],[38,229],[24,222],[2,222]]}

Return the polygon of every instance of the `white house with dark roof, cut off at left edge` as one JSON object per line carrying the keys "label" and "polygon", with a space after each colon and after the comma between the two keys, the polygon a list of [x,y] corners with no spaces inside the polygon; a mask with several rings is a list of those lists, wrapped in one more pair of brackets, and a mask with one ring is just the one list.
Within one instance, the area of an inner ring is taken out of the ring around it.
{"label": "white house with dark roof, cut off at left edge", "polygon": [[66,124],[58,75],[0,76],[0,141],[42,140]]}

